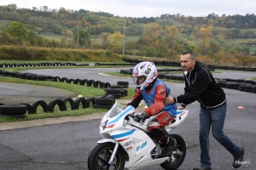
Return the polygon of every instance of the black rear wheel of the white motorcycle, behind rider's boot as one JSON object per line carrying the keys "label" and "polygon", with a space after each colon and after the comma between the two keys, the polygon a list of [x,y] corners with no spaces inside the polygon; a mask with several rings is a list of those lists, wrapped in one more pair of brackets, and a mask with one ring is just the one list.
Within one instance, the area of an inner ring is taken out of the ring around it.
{"label": "black rear wheel of the white motorcycle, behind rider's boot", "polygon": [[186,156],[186,144],[183,138],[175,133],[172,133],[171,136],[176,139],[177,145],[170,155],[170,160],[160,164],[166,170],[174,170],[180,167]]}

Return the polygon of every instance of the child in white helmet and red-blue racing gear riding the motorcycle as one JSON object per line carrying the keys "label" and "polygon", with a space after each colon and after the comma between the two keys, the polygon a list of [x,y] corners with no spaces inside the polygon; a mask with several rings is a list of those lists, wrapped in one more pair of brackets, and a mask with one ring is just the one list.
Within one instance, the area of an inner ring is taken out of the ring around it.
{"label": "child in white helmet and red-blue racing gear riding the motorcycle", "polygon": [[166,96],[170,94],[171,89],[164,82],[157,79],[158,73],[153,62],[144,61],[137,64],[133,69],[132,75],[137,83],[137,91],[131,102],[134,108],[144,99],[148,108],[141,114],[134,117],[136,122],[148,119],[154,116],[154,119],[148,123],[148,131],[152,133],[155,139],[159,139],[163,150],[163,156],[169,156],[176,146],[176,140],[166,132],[165,127],[172,122],[177,115],[176,105],[165,105]]}

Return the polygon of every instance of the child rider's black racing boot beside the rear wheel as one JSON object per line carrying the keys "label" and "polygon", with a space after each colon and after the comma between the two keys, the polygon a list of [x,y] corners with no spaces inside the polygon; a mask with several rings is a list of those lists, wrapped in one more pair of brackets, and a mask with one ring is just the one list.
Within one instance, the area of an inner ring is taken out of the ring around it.
{"label": "child rider's black racing boot beside the rear wheel", "polygon": [[172,154],[172,150],[176,148],[176,139],[172,138],[170,134],[165,135],[161,140],[161,145],[164,146],[162,150],[163,156],[170,156]]}

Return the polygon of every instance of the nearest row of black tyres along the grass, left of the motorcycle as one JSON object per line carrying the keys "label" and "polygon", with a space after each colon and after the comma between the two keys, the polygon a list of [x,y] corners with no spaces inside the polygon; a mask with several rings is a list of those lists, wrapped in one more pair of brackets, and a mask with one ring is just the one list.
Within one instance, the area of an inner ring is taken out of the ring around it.
{"label": "nearest row of black tyres along the grass, left of the motorcycle", "polygon": [[[49,104],[44,100],[37,100],[29,105],[27,103],[20,103],[18,105],[5,105],[0,103],[0,116],[10,116],[14,118],[25,118],[29,114],[38,113],[38,107],[43,108],[43,112],[56,112],[55,107],[58,106],[58,111],[67,111],[67,103],[70,104],[70,110],[86,109],[91,105],[93,108],[110,109],[115,103],[115,98],[112,95],[107,97],[80,97],[72,99],[65,97],[64,99],[51,99]],[[95,106],[96,105],[96,106]]]}

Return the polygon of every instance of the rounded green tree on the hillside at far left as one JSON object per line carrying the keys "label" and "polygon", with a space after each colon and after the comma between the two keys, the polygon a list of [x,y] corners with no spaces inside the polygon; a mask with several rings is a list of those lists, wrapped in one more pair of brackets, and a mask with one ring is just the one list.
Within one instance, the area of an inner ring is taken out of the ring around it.
{"label": "rounded green tree on the hillside at far left", "polygon": [[11,22],[6,32],[13,37],[17,37],[20,41],[26,40],[28,37],[28,30],[19,22]]}

